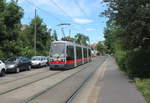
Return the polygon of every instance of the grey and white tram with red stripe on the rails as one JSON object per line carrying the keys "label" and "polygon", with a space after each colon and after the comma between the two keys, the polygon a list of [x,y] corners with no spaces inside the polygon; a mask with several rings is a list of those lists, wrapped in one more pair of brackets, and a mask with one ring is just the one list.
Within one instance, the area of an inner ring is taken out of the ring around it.
{"label": "grey and white tram with red stripe on the rails", "polygon": [[51,44],[49,69],[71,69],[91,61],[91,49],[69,41]]}

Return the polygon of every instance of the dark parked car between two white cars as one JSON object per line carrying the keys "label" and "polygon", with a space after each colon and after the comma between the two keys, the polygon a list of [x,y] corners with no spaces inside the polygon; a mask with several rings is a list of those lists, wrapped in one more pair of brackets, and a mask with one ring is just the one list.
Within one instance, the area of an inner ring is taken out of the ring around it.
{"label": "dark parked car between two white cars", "polygon": [[31,60],[27,57],[12,57],[6,60],[6,72],[31,70]]}

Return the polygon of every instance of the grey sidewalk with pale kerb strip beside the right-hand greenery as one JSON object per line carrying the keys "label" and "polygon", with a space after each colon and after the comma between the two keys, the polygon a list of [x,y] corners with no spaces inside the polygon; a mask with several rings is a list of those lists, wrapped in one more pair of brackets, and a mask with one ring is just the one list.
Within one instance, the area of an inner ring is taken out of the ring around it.
{"label": "grey sidewalk with pale kerb strip beside the right-hand greenery", "polygon": [[109,57],[83,87],[73,103],[146,103],[134,83],[131,83]]}

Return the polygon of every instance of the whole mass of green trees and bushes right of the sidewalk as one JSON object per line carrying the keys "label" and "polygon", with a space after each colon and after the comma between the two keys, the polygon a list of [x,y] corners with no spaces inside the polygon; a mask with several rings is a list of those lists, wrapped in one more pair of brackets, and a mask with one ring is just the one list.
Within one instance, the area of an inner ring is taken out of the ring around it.
{"label": "whole mass of green trees and bushes right of the sidewalk", "polygon": [[133,77],[150,77],[150,1],[104,0],[109,18],[105,45],[120,67]]}

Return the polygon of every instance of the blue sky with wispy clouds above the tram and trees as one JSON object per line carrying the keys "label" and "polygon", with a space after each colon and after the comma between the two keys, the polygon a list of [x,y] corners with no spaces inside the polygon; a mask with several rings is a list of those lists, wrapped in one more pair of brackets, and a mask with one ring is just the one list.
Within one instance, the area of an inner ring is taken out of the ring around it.
{"label": "blue sky with wispy clouds above the tram and trees", "polygon": [[71,28],[72,37],[83,33],[90,37],[91,43],[104,40],[107,19],[98,16],[106,8],[101,0],[19,0],[18,4],[24,9],[23,24],[30,23],[36,8],[37,15],[49,28],[56,29],[59,37],[62,33],[56,25],[70,23],[71,26],[64,26],[66,35]]}

